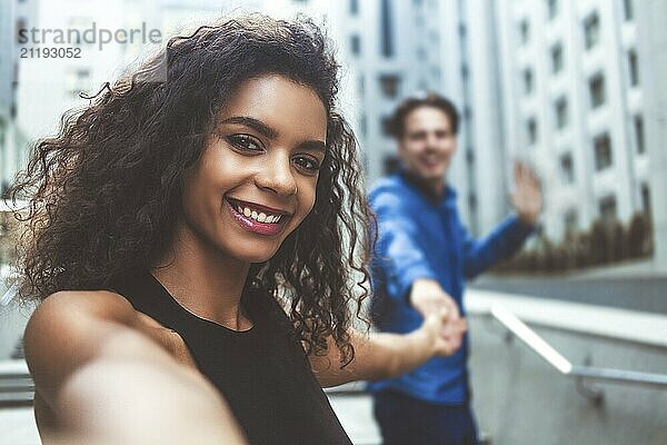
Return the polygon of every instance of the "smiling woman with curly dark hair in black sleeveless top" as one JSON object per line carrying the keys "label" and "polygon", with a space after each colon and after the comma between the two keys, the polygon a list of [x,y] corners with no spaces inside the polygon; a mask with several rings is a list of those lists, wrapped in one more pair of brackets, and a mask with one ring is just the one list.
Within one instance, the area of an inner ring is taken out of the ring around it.
{"label": "smiling woman with curly dark hair in black sleeveless top", "polygon": [[13,196],[46,442],[348,444],[321,386],[458,347],[457,314],[350,327],[372,218],[337,90],[316,26],[251,16],[171,39],[36,145]]}

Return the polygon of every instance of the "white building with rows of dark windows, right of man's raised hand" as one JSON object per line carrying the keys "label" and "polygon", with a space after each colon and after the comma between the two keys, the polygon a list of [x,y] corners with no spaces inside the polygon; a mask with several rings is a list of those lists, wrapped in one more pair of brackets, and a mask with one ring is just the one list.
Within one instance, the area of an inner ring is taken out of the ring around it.
{"label": "white building with rows of dark windows, right of man's raised hand", "polygon": [[508,156],[530,159],[551,239],[650,207],[635,0],[501,0]]}

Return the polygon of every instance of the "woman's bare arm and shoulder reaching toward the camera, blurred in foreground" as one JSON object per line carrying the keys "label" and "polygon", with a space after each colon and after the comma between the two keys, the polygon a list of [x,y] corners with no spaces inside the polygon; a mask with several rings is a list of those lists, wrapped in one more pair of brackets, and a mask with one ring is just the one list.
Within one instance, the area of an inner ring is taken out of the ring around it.
{"label": "woman's bare arm and shoulder reaching toward the camera, blurred in foreground", "polygon": [[117,294],[47,298],[26,329],[42,441],[245,444],[216,389],[169,349]]}

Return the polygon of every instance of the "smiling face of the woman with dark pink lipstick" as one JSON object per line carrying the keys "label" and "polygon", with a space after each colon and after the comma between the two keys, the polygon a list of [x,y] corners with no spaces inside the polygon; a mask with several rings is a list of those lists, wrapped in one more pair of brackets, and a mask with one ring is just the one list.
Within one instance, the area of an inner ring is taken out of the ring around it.
{"label": "smiling face of the woman with dark pink lipstick", "polygon": [[278,75],[243,82],[186,176],[188,238],[239,260],[269,259],[315,205],[326,136],[327,111],[309,87]]}

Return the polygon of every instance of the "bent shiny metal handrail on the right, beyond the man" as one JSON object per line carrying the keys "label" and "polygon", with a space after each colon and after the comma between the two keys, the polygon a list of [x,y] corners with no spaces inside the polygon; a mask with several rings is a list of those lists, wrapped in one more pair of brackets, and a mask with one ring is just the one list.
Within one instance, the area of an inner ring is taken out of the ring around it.
{"label": "bent shiny metal handrail on the right, beyond the man", "polygon": [[491,306],[491,314],[507,329],[524,340],[524,343],[526,343],[526,345],[528,345],[535,353],[558,369],[560,374],[577,378],[591,378],[615,383],[648,385],[667,389],[667,375],[665,374],[573,365],[563,354],[556,350],[535,330],[528,327],[500,303],[495,303]]}

